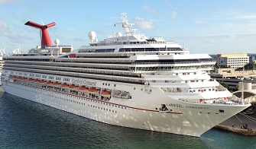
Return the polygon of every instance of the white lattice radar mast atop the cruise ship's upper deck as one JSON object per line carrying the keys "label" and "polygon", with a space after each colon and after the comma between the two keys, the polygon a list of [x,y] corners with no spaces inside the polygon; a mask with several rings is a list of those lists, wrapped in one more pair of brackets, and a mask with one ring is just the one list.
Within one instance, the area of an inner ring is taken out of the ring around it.
{"label": "white lattice radar mast atop the cruise ship's upper deck", "polygon": [[134,24],[129,24],[127,20],[127,13],[122,12],[121,13],[121,20],[116,22],[115,24],[122,24],[122,27],[124,27],[125,30],[125,36],[133,36],[135,33],[136,29],[131,29],[132,25]]}

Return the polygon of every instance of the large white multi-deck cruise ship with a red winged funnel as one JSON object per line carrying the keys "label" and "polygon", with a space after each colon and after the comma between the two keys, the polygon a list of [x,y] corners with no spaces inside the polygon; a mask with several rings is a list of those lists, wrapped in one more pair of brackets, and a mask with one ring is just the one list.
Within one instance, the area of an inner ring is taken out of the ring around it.
{"label": "large white multi-deck cruise ship with a red winged funnel", "polygon": [[2,87],[8,94],[79,116],[128,128],[200,137],[250,103],[209,77],[215,61],[190,54],[160,36],[135,33],[121,13],[124,33],[89,46],[53,46],[47,28],[41,46],[3,57]]}

